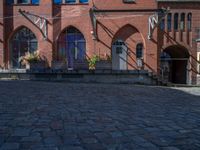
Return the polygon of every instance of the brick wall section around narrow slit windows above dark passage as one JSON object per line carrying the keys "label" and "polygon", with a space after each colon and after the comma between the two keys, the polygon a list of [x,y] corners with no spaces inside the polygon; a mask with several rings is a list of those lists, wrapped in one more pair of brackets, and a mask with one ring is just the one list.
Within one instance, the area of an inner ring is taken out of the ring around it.
{"label": "brick wall section around narrow slit windows above dark passage", "polygon": [[[158,4],[159,8],[170,8],[170,13],[172,13],[172,30],[167,32],[167,16],[165,17],[165,32],[161,31],[159,33],[159,44],[158,50],[163,51],[165,48],[171,45],[181,45],[188,50],[190,54],[190,67],[195,71],[190,71],[191,83],[196,82],[196,68],[197,68],[197,43],[196,43],[196,29],[200,26],[200,3],[195,2],[185,2],[185,3],[173,3],[173,2],[162,2]],[[179,14],[179,30],[174,30],[174,14]],[[180,15],[185,13],[185,30],[180,31]],[[192,30],[187,30],[187,15],[192,13]]]}

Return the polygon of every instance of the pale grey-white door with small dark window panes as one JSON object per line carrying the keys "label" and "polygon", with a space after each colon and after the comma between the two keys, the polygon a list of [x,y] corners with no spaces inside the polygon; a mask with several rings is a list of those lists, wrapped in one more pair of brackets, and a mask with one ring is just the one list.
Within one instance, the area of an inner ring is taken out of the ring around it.
{"label": "pale grey-white door with small dark window panes", "polygon": [[127,70],[127,46],[122,40],[112,44],[112,69]]}

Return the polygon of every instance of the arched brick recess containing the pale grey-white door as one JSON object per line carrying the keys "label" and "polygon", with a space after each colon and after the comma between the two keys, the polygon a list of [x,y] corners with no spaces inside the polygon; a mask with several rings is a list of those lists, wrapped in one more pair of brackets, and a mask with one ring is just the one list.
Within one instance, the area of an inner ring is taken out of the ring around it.
{"label": "arched brick recess containing the pale grey-white door", "polygon": [[[121,54],[118,52],[121,52]],[[131,24],[126,24],[121,28],[119,28],[119,30],[115,33],[112,40],[113,69],[114,70],[139,69],[137,60],[142,59],[145,61],[144,54],[145,54],[145,41],[139,30],[136,27],[132,26]]]}

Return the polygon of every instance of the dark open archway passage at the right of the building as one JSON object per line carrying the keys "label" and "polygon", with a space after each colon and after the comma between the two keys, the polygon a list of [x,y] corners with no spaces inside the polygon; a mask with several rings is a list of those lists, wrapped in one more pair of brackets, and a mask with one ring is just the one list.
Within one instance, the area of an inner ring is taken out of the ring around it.
{"label": "dark open archway passage at the right of the building", "polygon": [[170,82],[186,84],[188,79],[188,50],[181,46],[170,46],[161,54],[161,68]]}

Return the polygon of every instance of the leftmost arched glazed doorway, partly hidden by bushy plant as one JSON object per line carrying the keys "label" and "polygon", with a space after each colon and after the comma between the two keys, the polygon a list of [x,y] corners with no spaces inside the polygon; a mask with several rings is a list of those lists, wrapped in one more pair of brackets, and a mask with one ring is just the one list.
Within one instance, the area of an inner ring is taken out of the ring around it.
{"label": "leftmost arched glazed doorway, partly hidden by bushy plant", "polygon": [[35,34],[27,27],[20,28],[10,40],[10,62],[12,68],[23,69],[21,57],[27,52],[33,53],[38,49]]}

